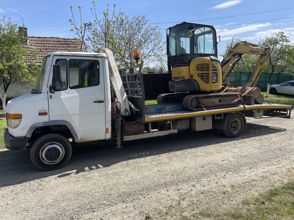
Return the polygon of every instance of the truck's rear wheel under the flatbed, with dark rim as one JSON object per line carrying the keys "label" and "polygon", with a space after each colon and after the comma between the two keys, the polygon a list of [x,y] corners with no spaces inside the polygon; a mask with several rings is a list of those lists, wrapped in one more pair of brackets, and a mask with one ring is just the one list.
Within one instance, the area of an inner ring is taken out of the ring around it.
{"label": "truck's rear wheel under the flatbed, with dark rim", "polygon": [[229,138],[239,137],[244,130],[244,119],[238,113],[231,114],[226,122],[223,134]]}

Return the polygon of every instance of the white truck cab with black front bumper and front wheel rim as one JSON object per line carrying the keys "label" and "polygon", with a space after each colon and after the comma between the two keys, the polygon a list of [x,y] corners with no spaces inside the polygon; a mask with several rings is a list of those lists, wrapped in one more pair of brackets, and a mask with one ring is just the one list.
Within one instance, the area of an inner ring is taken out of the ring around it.
{"label": "white truck cab with black front bumper and front wheel rim", "polygon": [[[25,150],[27,144],[44,133],[63,136],[64,142],[109,139],[111,94],[107,56],[80,52],[46,55],[31,94],[9,101],[6,112],[8,130],[4,139],[10,150]],[[40,151],[42,162],[55,163],[58,168],[65,158],[65,145],[58,141],[44,143]],[[52,151],[55,154],[51,155]]]}

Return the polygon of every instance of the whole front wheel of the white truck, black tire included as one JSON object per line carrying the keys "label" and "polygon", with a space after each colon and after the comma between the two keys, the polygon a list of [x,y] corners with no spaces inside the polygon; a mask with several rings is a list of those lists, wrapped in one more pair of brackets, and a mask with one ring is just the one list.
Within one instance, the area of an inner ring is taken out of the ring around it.
{"label": "whole front wheel of the white truck, black tire included", "polygon": [[46,134],[31,148],[31,160],[39,170],[57,170],[71,159],[71,143],[60,134]]}

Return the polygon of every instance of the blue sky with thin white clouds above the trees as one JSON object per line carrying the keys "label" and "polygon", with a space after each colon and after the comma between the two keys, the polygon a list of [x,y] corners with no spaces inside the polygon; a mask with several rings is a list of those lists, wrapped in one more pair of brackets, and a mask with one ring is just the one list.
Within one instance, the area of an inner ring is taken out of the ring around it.
{"label": "blue sky with thin white clouds above the trees", "polygon": [[[117,9],[129,16],[146,14],[149,23],[158,23],[164,40],[166,28],[182,21],[213,25],[220,35],[219,54],[225,51],[232,37],[258,43],[260,38],[284,31],[294,43],[293,0],[97,0],[95,3],[101,16],[106,4],[116,4]],[[21,15],[29,36],[74,38],[76,35],[70,31],[72,27],[68,21],[71,18],[69,6],[74,6],[74,12],[78,12],[77,6],[81,6],[83,22],[93,20],[90,11],[93,5],[89,0],[0,0],[0,18],[10,17],[13,23],[21,24]]]}

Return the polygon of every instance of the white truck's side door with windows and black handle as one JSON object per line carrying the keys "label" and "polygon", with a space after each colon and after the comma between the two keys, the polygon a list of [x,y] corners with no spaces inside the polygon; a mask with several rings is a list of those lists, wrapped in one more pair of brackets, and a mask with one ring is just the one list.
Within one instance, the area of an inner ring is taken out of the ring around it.
{"label": "white truck's side door with windows and black handle", "polygon": [[[64,120],[74,127],[79,142],[106,137],[103,62],[99,57],[55,56],[60,80],[49,77],[49,120]],[[52,81],[51,81],[52,80]]]}

